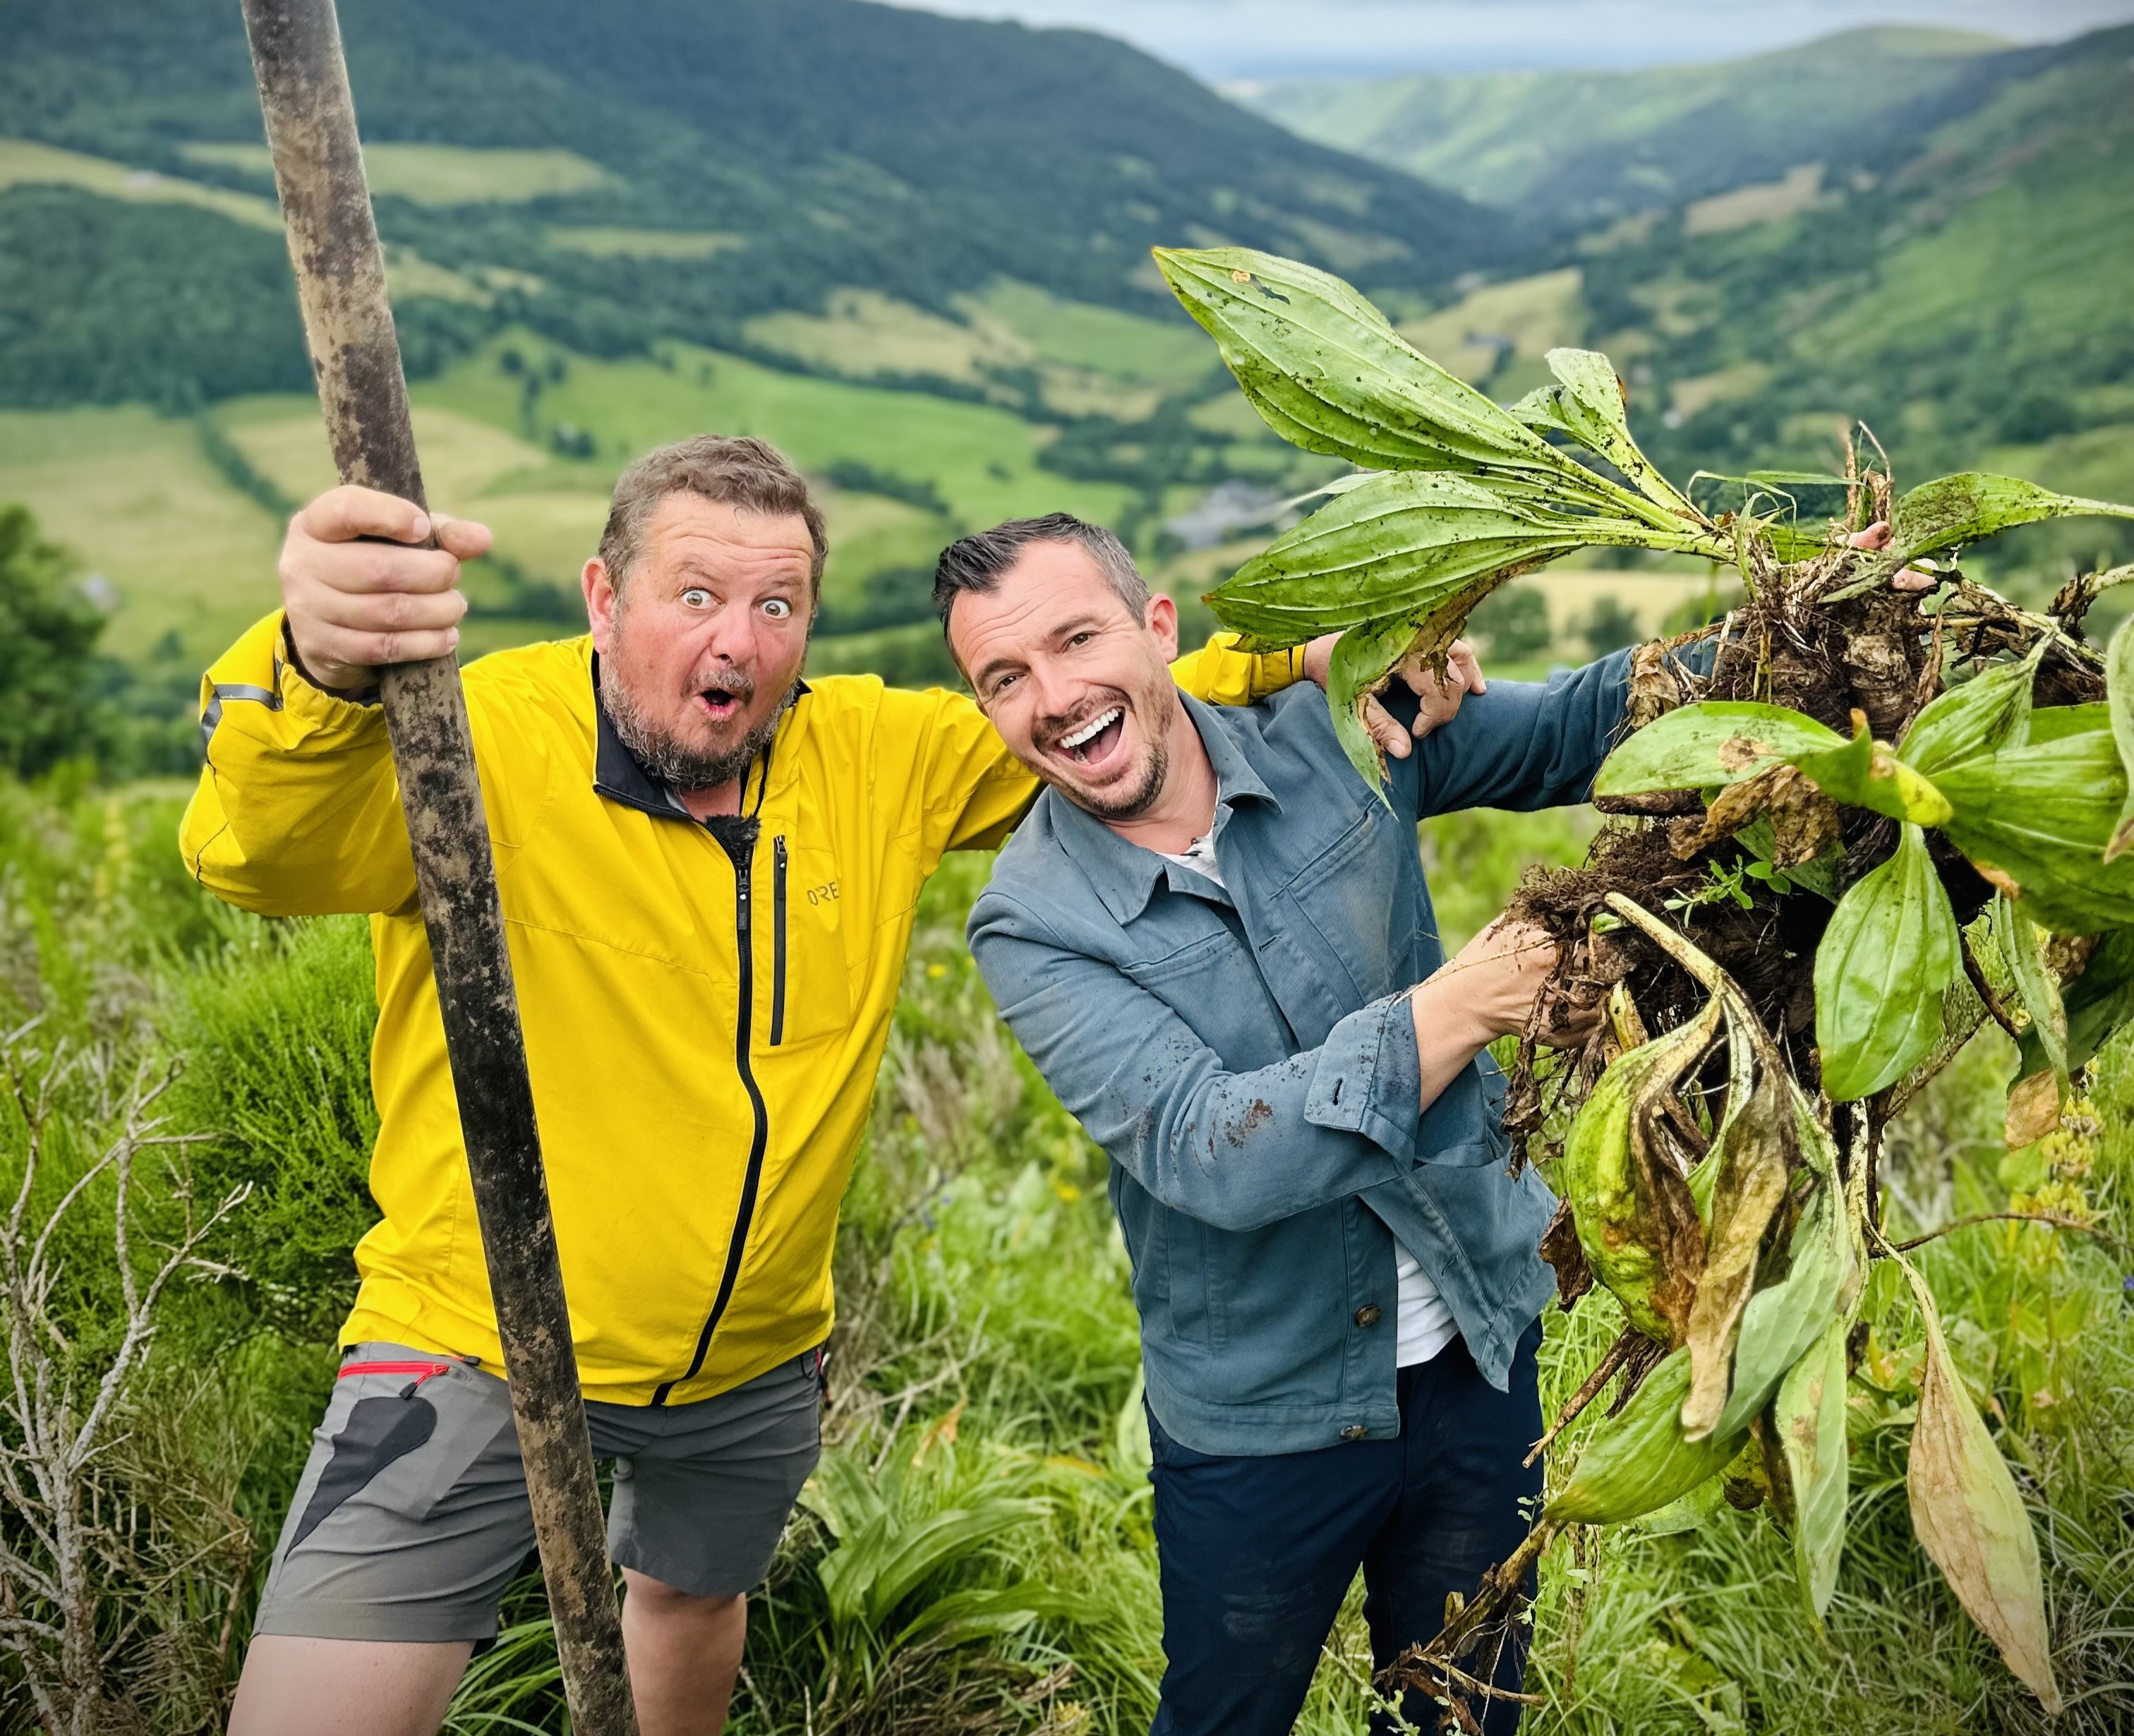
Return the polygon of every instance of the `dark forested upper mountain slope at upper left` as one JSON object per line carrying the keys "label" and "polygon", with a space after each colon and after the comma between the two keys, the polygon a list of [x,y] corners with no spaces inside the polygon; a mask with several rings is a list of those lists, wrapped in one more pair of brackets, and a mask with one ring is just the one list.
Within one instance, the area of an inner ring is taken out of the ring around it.
{"label": "dark forested upper mountain slope at upper left", "polygon": [[[561,147],[610,184],[446,218],[384,201],[384,228],[446,265],[557,288],[713,337],[841,284],[945,307],[994,275],[1159,305],[1146,250],[1225,235],[1387,284],[1502,256],[1509,224],[1223,102],[1084,32],[860,0],[352,0],[341,9],[371,141]],[[260,186],[186,160],[254,141],[228,0],[11,0],[6,130]],[[600,261],[536,220],[717,231],[700,261]]]}

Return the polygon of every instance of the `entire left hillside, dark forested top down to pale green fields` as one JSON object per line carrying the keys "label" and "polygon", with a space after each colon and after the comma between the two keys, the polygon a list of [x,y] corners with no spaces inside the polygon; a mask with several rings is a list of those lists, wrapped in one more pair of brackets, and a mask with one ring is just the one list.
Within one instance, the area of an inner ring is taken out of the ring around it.
{"label": "entire left hillside, dark forested top down to pale green fields", "polygon": [[[922,624],[965,525],[1073,506],[1157,557],[1210,483],[1325,465],[1193,419],[1227,382],[1150,243],[1417,295],[1513,228],[1078,32],[858,0],[341,11],[425,459],[499,534],[478,645],[574,621],[615,472],[704,429],[826,487],[824,632],[869,634],[851,656]],[[0,406],[55,416],[11,416],[0,500],[102,574],[113,645],[207,656],[327,480],[241,21],[15,0],[6,26]]]}

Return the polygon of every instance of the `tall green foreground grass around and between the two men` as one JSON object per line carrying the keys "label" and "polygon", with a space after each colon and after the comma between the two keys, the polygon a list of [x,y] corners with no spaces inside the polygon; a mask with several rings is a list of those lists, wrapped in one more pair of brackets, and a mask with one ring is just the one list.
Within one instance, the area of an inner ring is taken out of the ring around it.
{"label": "tall green foreground grass around and between the two men", "polygon": [[[184,1542],[222,1512],[243,1540],[241,1563],[220,1557],[224,1580],[128,1593],[143,1644],[169,1661],[141,1700],[143,1727],[190,1736],[220,1725],[265,1550],[331,1386],[348,1247],[373,1211],[363,1170],[376,1012],[361,922],[222,912],[175,863],[175,814],[173,790],[0,788],[0,1014],[38,1014],[134,1057],[184,1057],[171,1110],[205,1136],[192,1149],[203,1191],[254,1185],[216,1247],[239,1277],[177,1296],[130,1431],[147,1522]],[[1588,826],[1583,816],[1430,822],[1447,942],[1481,927],[1524,865],[1575,856]],[[839,1232],[834,1475],[751,1597],[736,1736],[1140,1736],[1154,1710],[1161,1599],[1127,1256],[1103,1155],[1014,1046],[962,946],[986,867],[954,858],[920,908]],[[1891,1130],[1889,1209],[1925,1230],[2066,1185],[2106,1232],[1985,1226],[1918,1253],[2034,1501],[2070,1700],[2055,1730],[2102,1736],[2134,1727],[2134,1309],[2121,1300],[2134,1057],[2104,1057],[2100,1132],[2053,1174],[2036,1159],[2006,1164],[2004,1076],[2006,1055],[1982,1042]],[[1876,1279],[1869,1305],[1876,1354],[1901,1362],[1918,1337],[1908,1296]],[[1549,1311],[1545,1405],[1613,1332],[1607,1298]],[[1854,1399],[1852,1531],[1820,1629],[1763,1514],[1720,1505],[1675,1535],[1560,1542],[1534,1610],[1530,1687],[1543,1704],[1528,1730],[2042,1732],[1912,1540],[1906,1403],[1901,1384]],[[1573,1450],[1575,1437],[1556,1475]],[[160,1508],[158,1486],[173,1493]],[[862,1512],[856,1488],[875,1490],[881,1510]],[[869,1548],[896,1554],[903,1576],[869,1578],[888,1591],[854,1599],[864,1552],[849,1552],[877,1520]],[[847,1565],[832,1567],[839,1559]],[[233,1572],[239,1595],[216,1604]],[[1368,1676],[1353,1593],[1297,1727],[1359,1732]],[[9,1691],[0,1666],[0,1727],[17,1727]],[[506,1604],[499,1644],[469,1668],[450,1727],[563,1730],[531,1572]]]}

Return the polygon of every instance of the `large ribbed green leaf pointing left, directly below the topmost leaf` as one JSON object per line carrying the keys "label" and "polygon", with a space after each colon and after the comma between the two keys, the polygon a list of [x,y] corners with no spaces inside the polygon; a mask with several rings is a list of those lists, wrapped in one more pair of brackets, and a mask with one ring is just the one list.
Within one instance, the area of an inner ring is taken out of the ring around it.
{"label": "large ribbed green leaf pointing left, directly below the topmost leaf", "polygon": [[1451,641],[1466,611],[1513,572],[1573,549],[1654,540],[1665,538],[1628,519],[1549,512],[1530,489],[1389,472],[1278,536],[1210,591],[1208,606],[1268,649],[1396,615],[1443,617]]}

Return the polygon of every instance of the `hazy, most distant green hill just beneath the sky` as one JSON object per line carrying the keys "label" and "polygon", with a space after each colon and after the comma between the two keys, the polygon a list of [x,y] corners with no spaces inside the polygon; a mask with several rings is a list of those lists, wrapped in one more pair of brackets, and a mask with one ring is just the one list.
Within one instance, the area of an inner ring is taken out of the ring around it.
{"label": "hazy, most distant green hill just beneath the sky", "polygon": [[1953,30],[1850,30],[1782,53],[1635,73],[1494,73],[1238,85],[1261,113],[1361,156],[1592,224],[1904,149],[2040,51]]}

